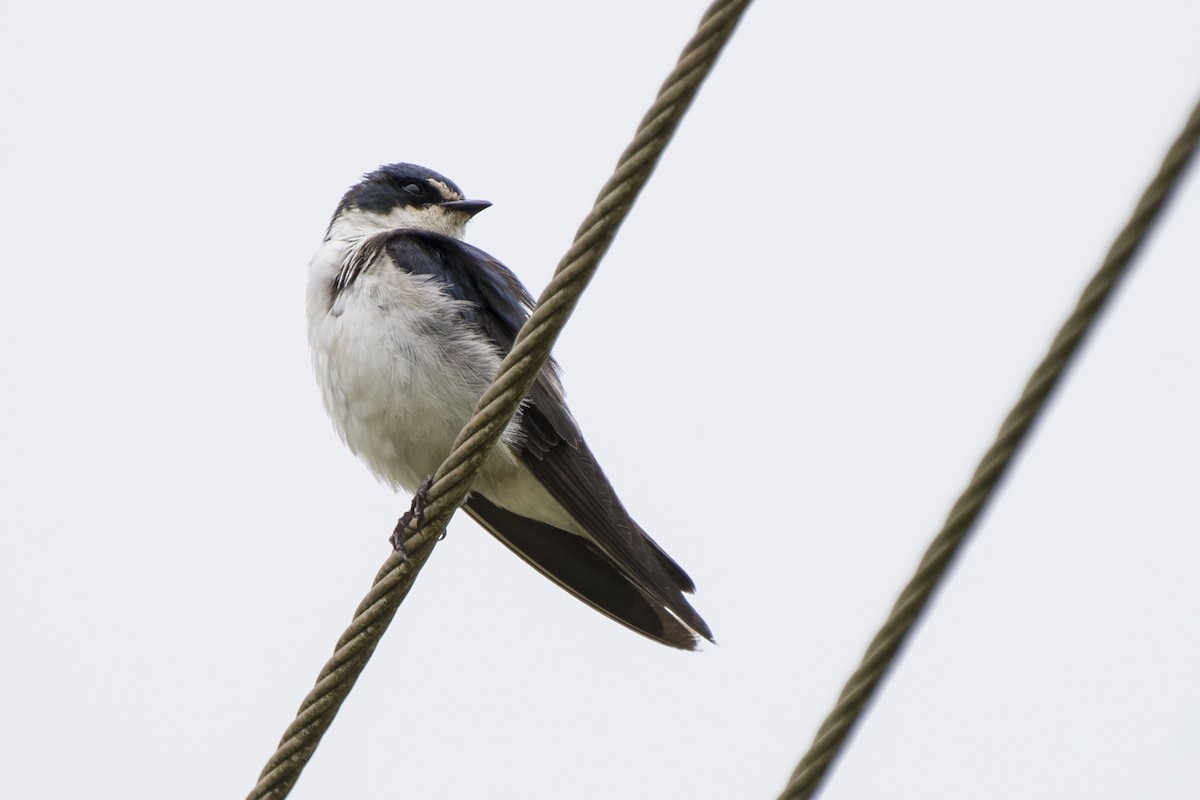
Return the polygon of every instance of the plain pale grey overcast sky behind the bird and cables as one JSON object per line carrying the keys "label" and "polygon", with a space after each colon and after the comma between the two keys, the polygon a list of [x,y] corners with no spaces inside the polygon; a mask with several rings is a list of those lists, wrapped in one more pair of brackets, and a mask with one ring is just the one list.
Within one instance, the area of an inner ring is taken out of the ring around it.
{"label": "plain pale grey overcast sky behind the bird and cables", "polygon": [[[703,0],[20,4],[0,795],[240,798],[408,506],[306,265],[413,161],[538,294]],[[563,336],[719,646],[456,518],[293,798],[773,798],[1200,96],[1194,2],[763,0]],[[1193,174],[824,792],[1200,796]]]}

